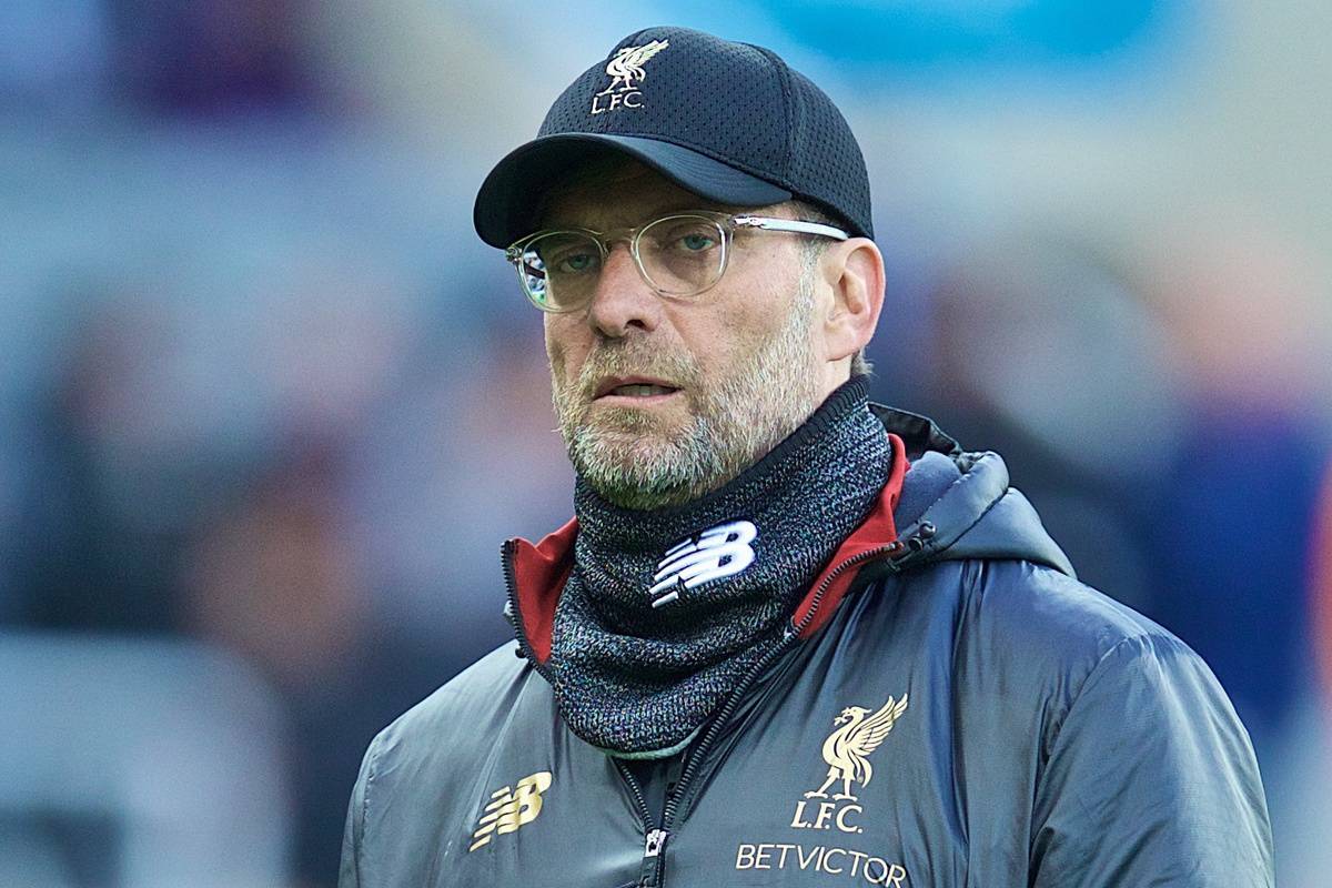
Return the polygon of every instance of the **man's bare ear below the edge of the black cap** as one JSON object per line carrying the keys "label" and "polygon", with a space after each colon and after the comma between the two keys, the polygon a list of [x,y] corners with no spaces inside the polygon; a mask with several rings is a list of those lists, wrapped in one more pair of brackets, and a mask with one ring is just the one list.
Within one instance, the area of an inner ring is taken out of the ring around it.
{"label": "man's bare ear below the edge of the black cap", "polygon": [[883,254],[867,237],[852,237],[825,250],[822,277],[832,302],[823,318],[827,359],[850,358],[874,337],[883,310]]}

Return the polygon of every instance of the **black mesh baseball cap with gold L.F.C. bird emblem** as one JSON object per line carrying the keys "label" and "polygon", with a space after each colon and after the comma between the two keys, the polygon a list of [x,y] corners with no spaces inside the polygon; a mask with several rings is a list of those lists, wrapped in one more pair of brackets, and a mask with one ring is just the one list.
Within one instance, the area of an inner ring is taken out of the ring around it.
{"label": "black mesh baseball cap with gold L.F.C. bird emblem", "polygon": [[533,233],[550,186],[607,153],[719,204],[799,197],[874,237],[864,157],[832,100],[771,49],[663,27],[615,44],[490,170],[473,212],[481,240]]}

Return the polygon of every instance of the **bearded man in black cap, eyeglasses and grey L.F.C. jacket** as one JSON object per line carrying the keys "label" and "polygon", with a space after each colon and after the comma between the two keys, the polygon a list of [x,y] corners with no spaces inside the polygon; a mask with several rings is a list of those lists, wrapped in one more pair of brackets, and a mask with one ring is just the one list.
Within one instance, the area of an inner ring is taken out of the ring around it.
{"label": "bearded man in black cap, eyeglasses and grey L.F.C. jacket", "polygon": [[575,518],[503,549],[515,644],[370,746],[344,888],[1272,884],[1201,660],[866,401],[883,262],[814,84],[634,33],[476,224],[546,313]]}

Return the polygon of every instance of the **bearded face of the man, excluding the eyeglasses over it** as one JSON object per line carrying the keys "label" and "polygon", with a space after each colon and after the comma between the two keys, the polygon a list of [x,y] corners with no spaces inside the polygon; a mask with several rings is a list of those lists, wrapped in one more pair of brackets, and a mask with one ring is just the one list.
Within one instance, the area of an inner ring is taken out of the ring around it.
{"label": "bearded face of the man, excluding the eyeglasses over it", "polygon": [[[543,228],[627,229],[709,205],[645,166],[557,193]],[[785,208],[762,214],[791,217]],[[813,262],[802,238],[738,232],[710,290],[663,298],[613,245],[591,302],[545,317],[555,411],[579,475],[655,509],[722,486],[819,405]]]}

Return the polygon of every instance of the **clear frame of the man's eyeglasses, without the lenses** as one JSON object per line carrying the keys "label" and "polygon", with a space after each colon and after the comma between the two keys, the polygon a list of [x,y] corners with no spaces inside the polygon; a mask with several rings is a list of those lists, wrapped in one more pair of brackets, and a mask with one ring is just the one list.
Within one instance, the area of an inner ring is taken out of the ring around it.
{"label": "clear frame of the man's eyeglasses, without the lenses", "polygon": [[[653,278],[653,273],[643,261],[643,236],[658,226],[669,225],[671,222],[706,222],[711,226],[711,230],[717,232],[718,249],[715,260],[703,269],[703,277],[689,286],[663,286],[662,282]],[[619,229],[615,232],[595,232],[587,228],[542,229],[514,241],[505,249],[505,258],[509,260],[509,262],[511,262],[514,269],[518,272],[518,281],[522,285],[522,292],[534,306],[547,313],[577,312],[591,300],[591,294],[595,292],[594,281],[599,277],[601,268],[610,256],[611,245],[619,241],[626,241],[629,244],[629,253],[634,260],[634,266],[638,269],[639,277],[642,277],[642,280],[659,296],[665,298],[685,300],[706,293],[711,288],[717,286],[717,284],[722,280],[722,276],[726,273],[726,268],[730,264],[737,230],[810,234],[814,237],[829,237],[836,241],[844,241],[850,237],[850,234],[842,229],[832,225],[825,225],[823,222],[777,218],[771,216],[733,216],[730,213],[721,213],[715,210],[682,210],[649,220],[635,228]],[[582,238],[595,244],[597,250],[599,252],[597,272],[591,278],[593,282],[586,285],[587,289],[579,298],[573,300],[569,304],[555,304],[550,298],[547,272],[539,253],[534,249],[534,246],[542,241],[550,242],[558,236],[581,236]]]}

